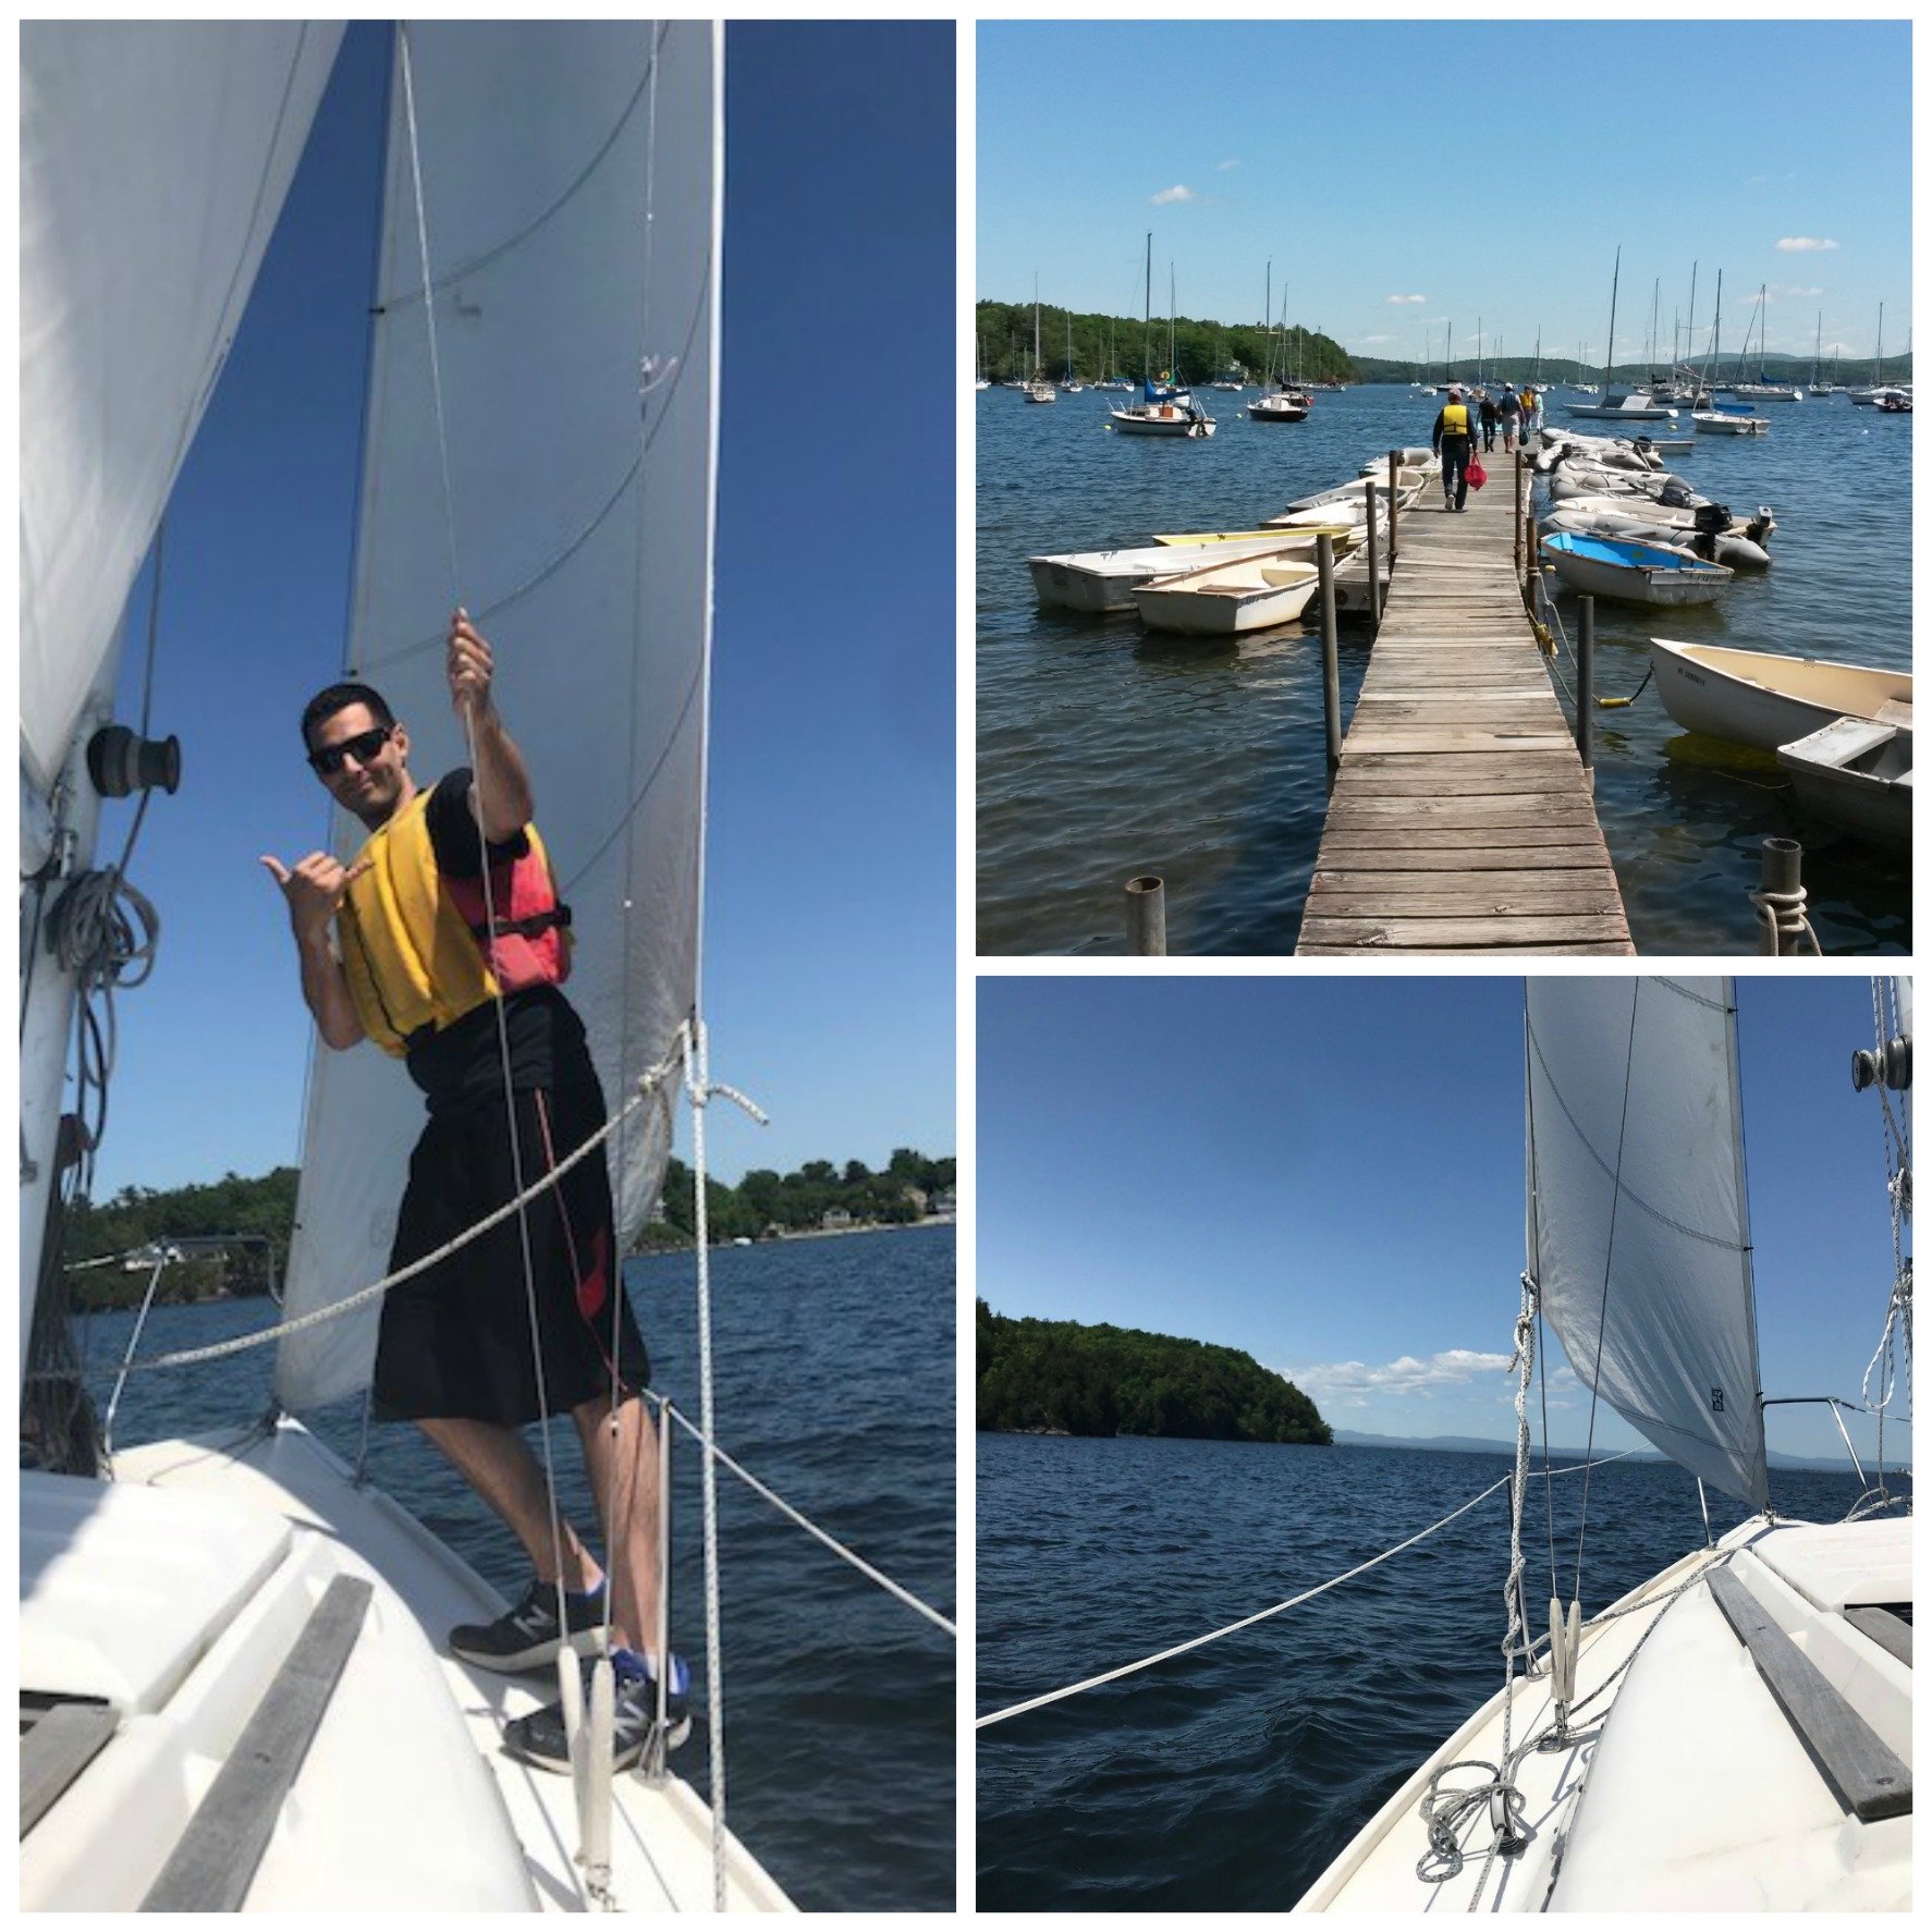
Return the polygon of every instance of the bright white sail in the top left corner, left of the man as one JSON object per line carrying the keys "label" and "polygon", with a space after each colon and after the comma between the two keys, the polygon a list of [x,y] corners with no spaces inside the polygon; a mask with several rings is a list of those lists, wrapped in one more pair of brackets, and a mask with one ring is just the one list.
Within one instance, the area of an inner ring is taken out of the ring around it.
{"label": "bright white sail in the top left corner, left of the man", "polygon": [[234,340],[340,25],[27,21],[19,744],[44,798]]}

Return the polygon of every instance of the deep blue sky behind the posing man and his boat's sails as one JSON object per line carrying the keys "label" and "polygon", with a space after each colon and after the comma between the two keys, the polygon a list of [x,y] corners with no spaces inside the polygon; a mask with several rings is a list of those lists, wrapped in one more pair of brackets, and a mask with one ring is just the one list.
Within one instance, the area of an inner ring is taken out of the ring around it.
{"label": "deep blue sky behind the posing man and his boat's sails", "polygon": [[[344,651],[384,60],[350,29],[168,516],[153,726],[185,777],[133,864],[164,929],[118,1007],[102,1198],[298,1155],[307,1012],[255,858],[325,823],[296,717]],[[726,35],[705,968],[713,1068],[773,1126],[721,1109],[724,1179],[954,1148],[952,75],[951,21]],[[866,595],[823,595],[860,547]]]}

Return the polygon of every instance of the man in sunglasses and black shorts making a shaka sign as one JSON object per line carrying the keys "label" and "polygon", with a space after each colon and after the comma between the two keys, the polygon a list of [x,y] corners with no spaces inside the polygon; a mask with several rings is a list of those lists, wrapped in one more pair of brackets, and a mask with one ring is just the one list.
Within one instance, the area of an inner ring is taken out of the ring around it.
{"label": "man in sunglasses and black shorts making a shaka sign", "polygon": [[[346,866],[328,852],[296,866],[263,858],[288,902],[303,999],[325,1045],[375,1041],[427,1099],[390,1273],[514,1200],[518,1165],[529,1186],[607,1119],[583,1022],[562,991],[570,908],[558,902],[531,823],[524,757],[491,699],[491,649],[462,611],[450,620],[446,670],[450,699],[471,726],[475,769],[419,786],[410,734],[383,696],[332,684],[301,715],[303,748],[369,837]],[[415,1422],[535,1567],[512,1611],[450,1633],[456,1656],[495,1671],[549,1671],[564,1644],[593,1650],[609,1621],[622,1770],[649,1745],[661,1669],[667,1743],[684,1741],[690,1673],[651,1650],[659,1449],[639,1395],[651,1362],[620,1260],[605,1161],[589,1155],[524,1215],[388,1291],[373,1412]],[[583,1445],[609,1596],[583,1540],[553,1517],[543,1468],[518,1434],[560,1412]],[[556,1704],[512,1721],[504,1741],[537,1764],[570,1766]]]}

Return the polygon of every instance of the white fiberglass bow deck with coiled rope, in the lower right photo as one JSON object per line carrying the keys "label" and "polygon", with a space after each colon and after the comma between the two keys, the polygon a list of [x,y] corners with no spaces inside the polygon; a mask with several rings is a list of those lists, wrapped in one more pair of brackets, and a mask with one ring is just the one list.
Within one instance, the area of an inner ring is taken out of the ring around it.
{"label": "white fiberglass bow deck with coiled rope, in the lower right photo", "polygon": [[[1729,1551],[1731,1578],[1911,1764],[1911,1665],[1845,1617],[1847,1604],[1911,1602],[1911,1520],[1766,1528],[1752,1519],[1719,1549]],[[1430,1779],[1459,1760],[1501,1760],[1497,1692],[1294,1909],[1909,1911],[1911,1816],[1861,1822],[1839,1806],[1710,1584],[1692,1580],[1708,1557],[1694,1551],[1621,1600],[1631,1605],[1689,1582],[1669,1605],[1584,1627],[1578,1704],[1629,1669],[1607,1714],[1598,1700],[1567,1747],[1517,1760],[1528,1837],[1519,1855],[1486,1857],[1492,1826],[1478,1806],[1457,1833],[1461,1870],[1441,1884],[1416,1870],[1430,1851],[1418,1818]],[[1517,1677],[1513,1747],[1551,1725],[1549,1689],[1546,1669]],[[1480,1777],[1463,1770],[1445,1783]]]}

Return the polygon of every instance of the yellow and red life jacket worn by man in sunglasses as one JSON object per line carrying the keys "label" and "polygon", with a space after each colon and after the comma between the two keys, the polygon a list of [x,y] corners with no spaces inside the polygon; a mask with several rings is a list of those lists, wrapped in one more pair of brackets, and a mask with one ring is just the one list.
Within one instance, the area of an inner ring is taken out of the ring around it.
{"label": "yellow and red life jacket worn by man in sunglasses", "polygon": [[444,1028],[485,1001],[570,976],[570,908],[535,825],[529,850],[491,866],[495,933],[483,881],[437,869],[429,790],[419,790],[363,844],[369,869],[336,914],[342,972],[363,1032],[398,1059],[423,1028]]}

